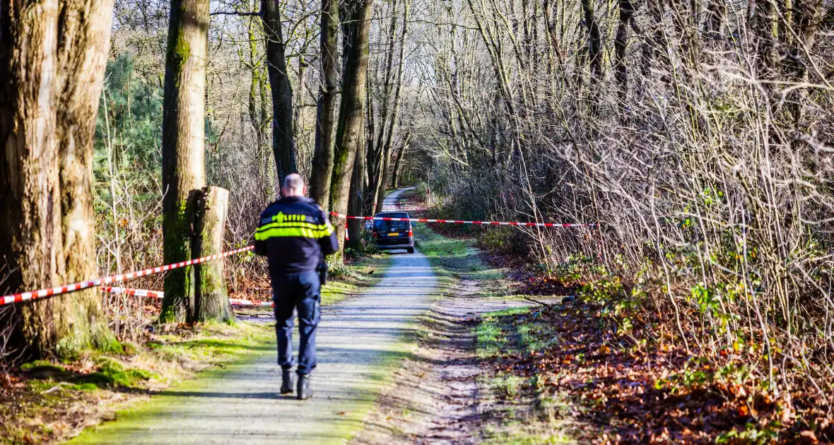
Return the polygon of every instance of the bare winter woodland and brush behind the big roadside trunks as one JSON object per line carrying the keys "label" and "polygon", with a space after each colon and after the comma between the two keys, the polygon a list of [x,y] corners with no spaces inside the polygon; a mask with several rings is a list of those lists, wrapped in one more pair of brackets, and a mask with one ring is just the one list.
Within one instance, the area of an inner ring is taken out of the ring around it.
{"label": "bare winter woodland and brush behind the big roadside trunks", "polygon": [[[476,234],[610,305],[620,332],[659,323],[762,392],[807,387],[831,403],[831,0],[368,4],[361,149],[340,158],[335,143],[336,170],[352,178],[349,213],[374,213],[386,188],[408,183],[430,189],[440,216],[599,223]],[[291,118],[294,163],[314,198],[344,208],[322,198],[331,188],[319,180],[336,175],[316,173],[326,164],[317,146],[333,144],[322,126],[336,127],[320,102],[324,92],[344,100],[348,85],[346,58],[322,57],[322,6],[277,3],[291,100],[276,115],[267,11],[209,5],[205,173],[230,191],[229,248],[249,243],[276,198],[276,116]],[[113,8],[93,160],[102,275],[164,256],[168,7]],[[264,263],[229,261],[233,293],[264,288]]]}

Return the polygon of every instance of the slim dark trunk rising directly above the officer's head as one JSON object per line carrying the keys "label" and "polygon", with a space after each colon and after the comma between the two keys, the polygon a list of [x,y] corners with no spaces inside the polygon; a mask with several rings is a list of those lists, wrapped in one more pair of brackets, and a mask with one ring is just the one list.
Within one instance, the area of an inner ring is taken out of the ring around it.
{"label": "slim dark trunk rising directly above the officer's head", "polygon": [[261,19],[266,35],[266,62],[272,87],[272,153],[280,182],[296,173],[293,139],[293,89],[289,85],[279,2],[261,0]]}

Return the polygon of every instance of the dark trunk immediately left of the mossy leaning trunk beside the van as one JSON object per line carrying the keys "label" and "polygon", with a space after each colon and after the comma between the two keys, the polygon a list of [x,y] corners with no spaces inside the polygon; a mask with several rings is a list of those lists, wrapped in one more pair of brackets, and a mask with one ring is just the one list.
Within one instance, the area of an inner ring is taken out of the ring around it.
{"label": "dark trunk immediately left of the mossy leaning trunk beside the van", "polygon": [[310,174],[310,198],[319,206],[330,204],[330,179],[333,175],[333,133],[336,94],[339,92],[339,0],[323,0],[321,5],[321,68],[319,103],[316,105],[315,152]]}

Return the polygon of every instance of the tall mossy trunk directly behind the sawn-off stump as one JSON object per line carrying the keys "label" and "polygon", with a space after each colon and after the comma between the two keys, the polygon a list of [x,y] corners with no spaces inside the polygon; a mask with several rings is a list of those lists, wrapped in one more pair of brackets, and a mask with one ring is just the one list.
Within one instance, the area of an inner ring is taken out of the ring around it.
{"label": "tall mossy trunk directly behind the sawn-off stump", "polygon": [[[191,258],[189,196],[205,186],[205,86],[208,0],[171,0],[163,96],[162,180],[165,263]],[[193,267],[165,276],[159,321],[193,319]]]}

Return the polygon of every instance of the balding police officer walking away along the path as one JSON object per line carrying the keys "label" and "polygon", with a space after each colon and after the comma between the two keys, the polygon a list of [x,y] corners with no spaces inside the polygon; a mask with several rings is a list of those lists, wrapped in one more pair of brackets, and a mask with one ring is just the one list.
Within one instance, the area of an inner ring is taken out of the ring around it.
{"label": "balding police officer walking away along the path", "polygon": [[336,252],[339,243],[324,211],[304,198],[304,179],[289,174],[281,188],[283,198],[261,213],[255,231],[258,255],[269,262],[275,303],[275,333],[278,336],[278,364],[281,393],[293,392],[293,309],[299,313],[299,382],[296,397],[310,398],[309,375],[315,368],[315,332],[320,318],[319,288],[326,276],[324,256]]}

